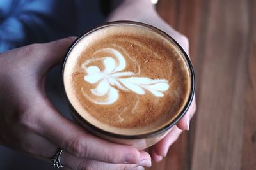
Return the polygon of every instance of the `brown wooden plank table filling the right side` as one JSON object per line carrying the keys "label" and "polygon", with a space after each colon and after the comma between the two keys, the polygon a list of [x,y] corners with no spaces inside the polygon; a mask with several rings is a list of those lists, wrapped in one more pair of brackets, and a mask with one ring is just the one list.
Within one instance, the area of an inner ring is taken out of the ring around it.
{"label": "brown wooden plank table filling the right side", "polygon": [[150,169],[256,169],[256,1],[159,0],[157,11],[189,38],[198,107]]}

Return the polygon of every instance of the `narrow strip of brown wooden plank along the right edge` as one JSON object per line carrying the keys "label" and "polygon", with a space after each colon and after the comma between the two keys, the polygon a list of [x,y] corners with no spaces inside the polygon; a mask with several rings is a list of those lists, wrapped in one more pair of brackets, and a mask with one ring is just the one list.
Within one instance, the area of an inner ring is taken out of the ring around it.
{"label": "narrow strip of brown wooden plank along the right edge", "polygon": [[246,66],[246,110],[243,127],[241,169],[256,169],[256,2],[250,1],[250,32],[248,37],[248,63]]}

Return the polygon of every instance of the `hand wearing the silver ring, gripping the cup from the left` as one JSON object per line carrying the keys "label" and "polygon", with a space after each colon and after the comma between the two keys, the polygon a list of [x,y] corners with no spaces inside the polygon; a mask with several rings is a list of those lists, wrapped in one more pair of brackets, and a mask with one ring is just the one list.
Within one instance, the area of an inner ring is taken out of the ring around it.
{"label": "hand wearing the silver ring, gripping the cup from the left", "polygon": [[50,160],[63,148],[70,169],[134,169],[150,166],[147,152],[86,133],[63,117],[47,98],[45,77],[74,38],[0,54],[0,143]]}

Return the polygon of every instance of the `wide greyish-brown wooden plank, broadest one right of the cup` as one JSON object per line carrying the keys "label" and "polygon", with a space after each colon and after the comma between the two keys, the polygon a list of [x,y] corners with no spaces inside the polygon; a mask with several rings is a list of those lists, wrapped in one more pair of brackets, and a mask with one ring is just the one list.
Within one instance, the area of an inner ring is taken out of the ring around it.
{"label": "wide greyish-brown wooden plank, broadest one right of the cup", "polygon": [[248,1],[209,1],[191,169],[240,169]]}

